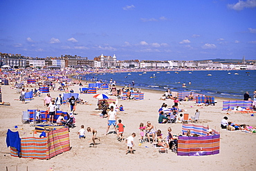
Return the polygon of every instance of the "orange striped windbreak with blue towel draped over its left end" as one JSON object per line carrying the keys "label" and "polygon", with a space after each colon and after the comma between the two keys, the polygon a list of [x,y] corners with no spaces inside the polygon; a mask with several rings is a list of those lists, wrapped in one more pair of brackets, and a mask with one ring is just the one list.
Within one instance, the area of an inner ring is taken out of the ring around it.
{"label": "orange striped windbreak with blue towel draped over its left end", "polygon": [[10,146],[12,157],[23,157],[32,159],[51,159],[57,154],[71,150],[68,128],[53,129],[46,133],[46,137],[19,138],[20,141],[10,143],[12,136],[19,137],[18,134],[8,130],[6,143]]}

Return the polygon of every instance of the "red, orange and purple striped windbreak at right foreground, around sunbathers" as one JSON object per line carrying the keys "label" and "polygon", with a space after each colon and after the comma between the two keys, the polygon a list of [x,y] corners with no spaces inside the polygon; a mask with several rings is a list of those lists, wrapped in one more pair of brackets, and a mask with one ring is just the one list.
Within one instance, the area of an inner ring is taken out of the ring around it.
{"label": "red, orange and purple striped windbreak at right foreground, around sunbathers", "polygon": [[203,125],[185,124],[182,125],[182,132],[188,130],[192,134],[198,134],[199,137],[183,137],[178,138],[178,156],[206,156],[219,154],[220,134],[216,130],[213,135],[208,136],[208,128]]}

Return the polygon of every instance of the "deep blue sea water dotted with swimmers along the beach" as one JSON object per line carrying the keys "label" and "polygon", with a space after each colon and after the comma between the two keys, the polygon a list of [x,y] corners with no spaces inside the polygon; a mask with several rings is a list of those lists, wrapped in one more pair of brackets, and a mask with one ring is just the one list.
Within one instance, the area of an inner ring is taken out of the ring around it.
{"label": "deep blue sea water dotted with swimmers along the beach", "polygon": [[[243,99],[249,92],[253,97],[256,90],[256,70],[187,70],[160,72],[120,72],[104,74],[86,74],[87,81],[102,80],[109,83],[116,81],[118,86],[145,88],[150,90],[167,90],[181,92],[192,91],[214,97]],[[185,83],[185,88],[183,87]]]}

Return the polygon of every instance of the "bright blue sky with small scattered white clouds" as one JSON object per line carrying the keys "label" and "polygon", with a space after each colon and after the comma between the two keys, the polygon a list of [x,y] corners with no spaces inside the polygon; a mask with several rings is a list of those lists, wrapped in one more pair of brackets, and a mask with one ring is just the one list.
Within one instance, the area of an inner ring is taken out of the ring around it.
{"label": "bright blue sky with small scattered white clouds", "polygon": [[256,0],[1,0],[0,52],[256,59]]}

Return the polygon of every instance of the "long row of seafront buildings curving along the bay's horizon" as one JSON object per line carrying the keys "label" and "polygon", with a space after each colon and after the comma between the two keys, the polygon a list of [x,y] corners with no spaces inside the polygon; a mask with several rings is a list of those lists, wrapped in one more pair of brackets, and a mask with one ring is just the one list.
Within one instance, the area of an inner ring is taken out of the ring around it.
{"label": "long row of seafront buildings curving along the bay's horizon", "polygon": [[149,61],[125,60],[118,61],[116,55],[104,56],[101,54],[93,60],[87,57],[62,55],[61,57],[33,58],[21,54],[0,53],[0,67],[11,68],[198,68],[209,70],[256,70],[256,62],[246,62],[243,58],[240,63],[221,63],[212,60],[205,61]]}

